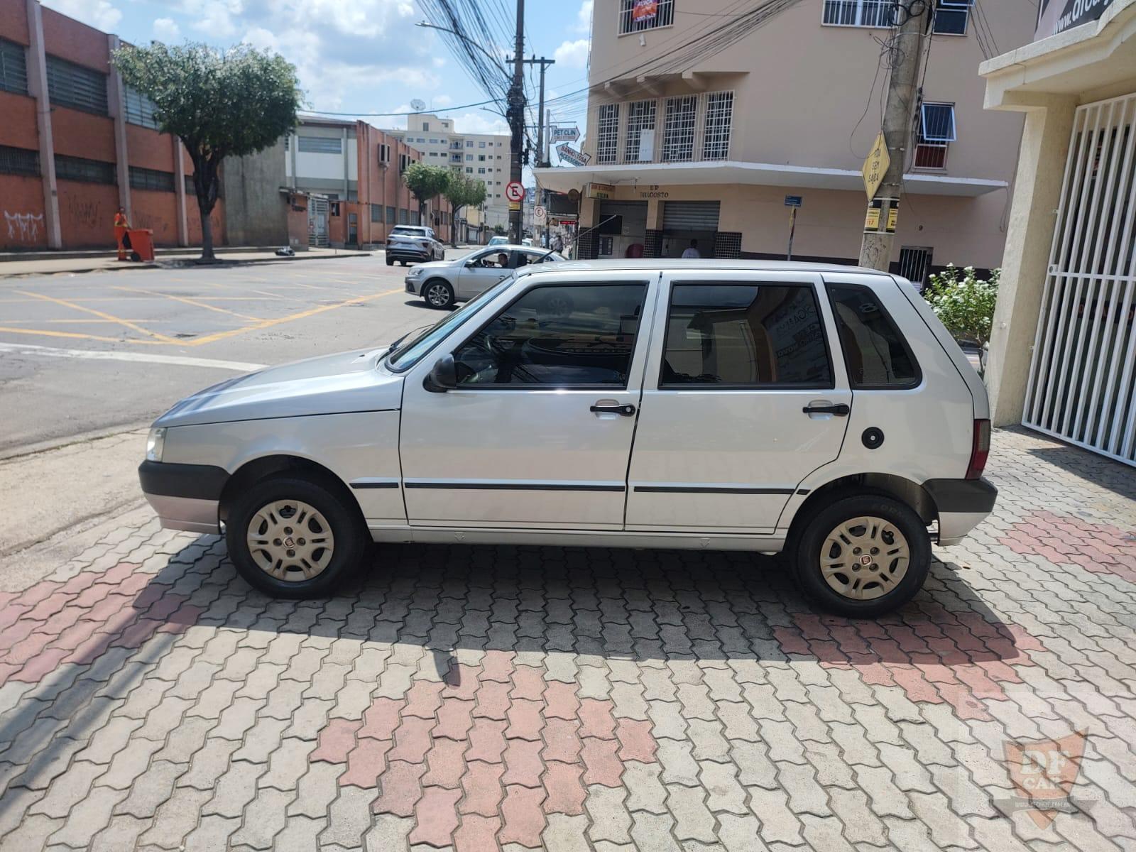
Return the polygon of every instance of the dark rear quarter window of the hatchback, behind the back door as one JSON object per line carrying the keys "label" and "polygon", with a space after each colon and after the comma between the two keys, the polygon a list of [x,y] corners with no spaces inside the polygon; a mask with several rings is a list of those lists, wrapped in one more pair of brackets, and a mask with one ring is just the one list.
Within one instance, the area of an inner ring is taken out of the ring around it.
{"label": "dark rear quarter window of the hatchback, behind the back door", "polygon": [[869,287],[829,284],[828,299],[854,390],[916,387],[922,381],[907,340]]}

